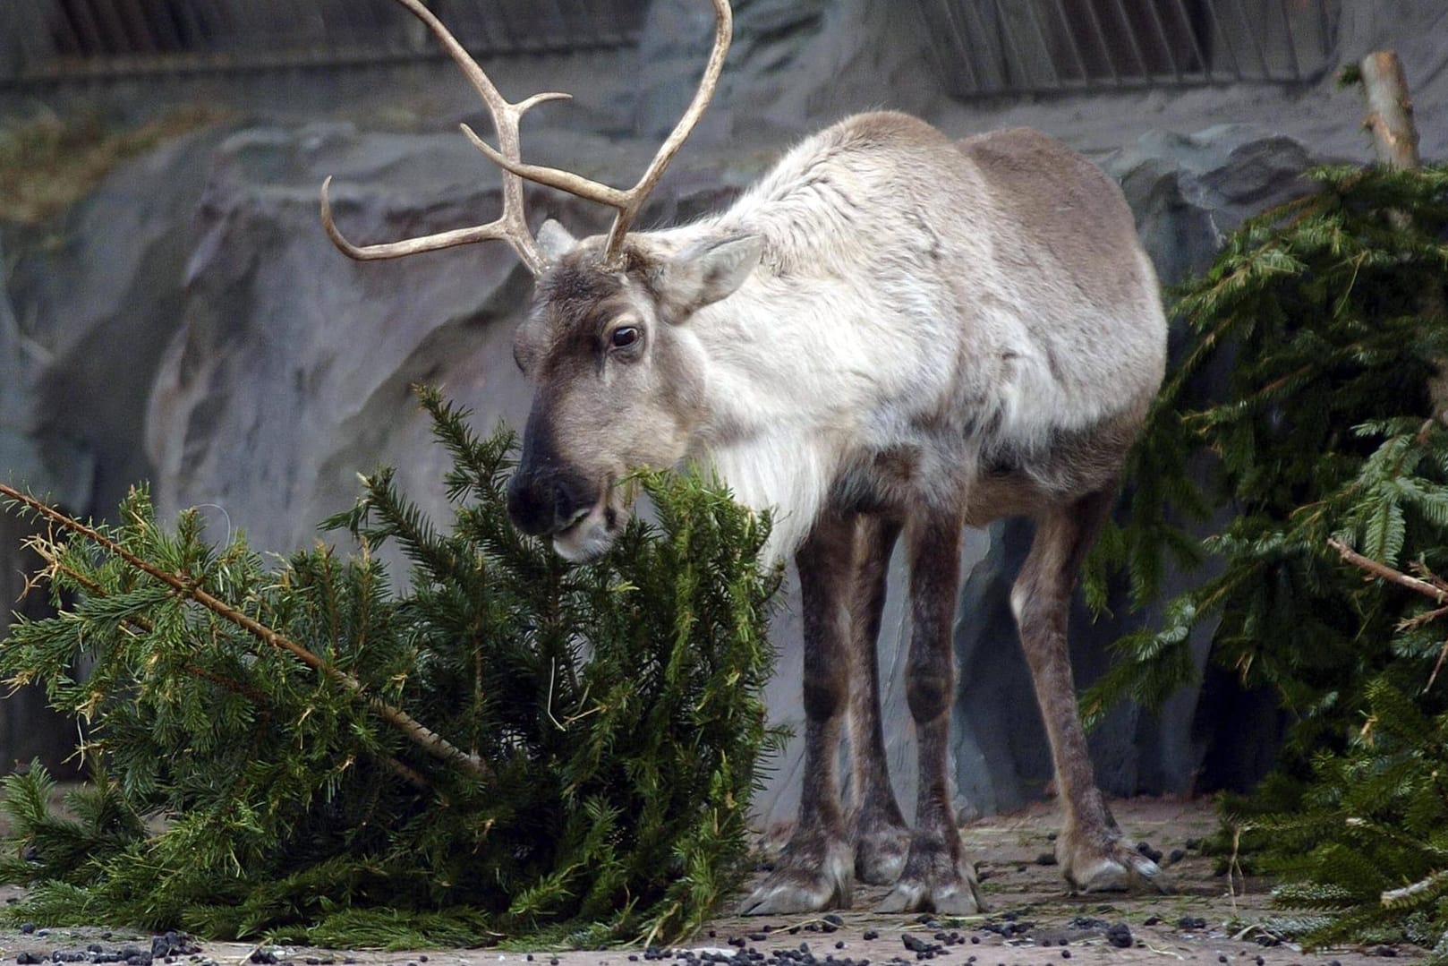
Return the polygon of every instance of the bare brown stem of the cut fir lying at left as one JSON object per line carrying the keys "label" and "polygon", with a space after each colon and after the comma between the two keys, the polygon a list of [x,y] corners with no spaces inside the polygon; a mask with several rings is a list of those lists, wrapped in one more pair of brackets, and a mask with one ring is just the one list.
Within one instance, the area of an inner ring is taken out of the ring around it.
{"label": "bare brown stem of the cut fir lying at left", "polygon": [[447,742],[447,739],[430,730],[427,726],[417,721],[401,708],[395,708],[382,701],[381,698],[366,694],[366,691],[363,691],[362,688],[362,682],[358,681],[355,676],[349,675],[345,671],[339,671],[337,668],[332,666],[330,663],[327,663],[317,655],[311,653],[301,644],[295,643],[294,640],[290,640],[282,634],[278,634],[271,627],[266,627],[261,621],[248,617],[235,607],[213,597],[211,594],[207,594],[204,589],[195,585],[194,579],[182,574],[168,574],[162,571],[153,563],[140,559],[139,556],[136,556],[126,547],[120,546],[110,537],[104,536],[98,530],[85,526],[80,520],[74,520],[65,516],[59,510],[55,510],[54,507],[49,507],[41,503],[39,500],[35,500],[33,497],[20,492],[19,490],[13,490],[12,487],[0,484],[0,495],[22,504],[30,511],[38,513],[46,520],[56,523],[61,527],[71,530],[72,533],[81,534],[87,540],[91,540],[93,543],[104,549],[107,553],[119,556],[122,560],[132,565],[138,571],[142,571],[143,574],[153,576],[155,579],[161,581],[162,584],[174,589],[177,594],[195,601],[197,604],[207,608],[213,614],[217,614],[219,617],[236,624],[237,627],[252,634],[258,640],[271,644],[278,650],[285,650],[287,653],[292,655],[308,668],[313,668],[314,671],[326,675],[327,678],[342,685],[343,688],[358,695],[359,698],[363,698],[372,707],[374,711],[382,715],[382,718],[387,720],[390,724],[401,730],[403,734],[405,734],[411,742],[414,742],[429,755],[443,762],[452,762],[453,765],[458,765],[459,768],[469,770],[479,778],[492,776],[492,770],[488,768],[487,762],[484,762],[481,757],[462,752],[450,742]]}

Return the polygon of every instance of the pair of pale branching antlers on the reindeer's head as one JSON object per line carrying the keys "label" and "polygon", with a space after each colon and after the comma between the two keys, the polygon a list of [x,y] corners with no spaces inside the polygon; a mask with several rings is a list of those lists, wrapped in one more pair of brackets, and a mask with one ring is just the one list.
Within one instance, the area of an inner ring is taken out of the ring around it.
{"label": "pair of pale branching antlers on the reindeer's head", "polygon": [[403,255],[430,252],[439,248],[452,248],[455,245],[468,245],[488,239],[504,239],[513,245],[518,258],[523,259],[529,269],[534,275],[539,275],[544,268],[547,268],[547,258],[543,255],[542,249],[539,249],[537,240],[529,232],[527,220],[523,214],[521,178],[527,178],[529,181],[557,188],[560,191],[568,191],[569,194],[581,198],[599,201],[615,209],[618,214],[614,216],[614,224],[608,230],[608,242],[604,246],[602,261],[605,265],[617,266],[621,261],[624,236],[633,226],[633,220],[639,214],[639,209],[643,207],[649,193],[653,191],[656,184],[659,184],[659,178],[663,177],[665,168],[668,168],[669,162],[673,161],[673,155],[679,152],[685,139],[699,123],[704,109],[708,107],[710,100],[714,98],[720,74],[724,70],[724,56],[728,54],[730,38],[734,32],[734,12],[730,9],[728,0],[714,0],[714,49],[710,52],[710,59],[704,67],[704,77],[699,80],[699,88],[694,93],[694,100],[689,103],[688,110],[683,112],[679,123],[675,125],[672,132],[669,132],[669,136],[659,148],[659,152],[653,156],[647,169],[644,169],[643,177],[639,178],[639,182],[634,187],[627,190],[591,181],[571,171],[524,164],[518,148],[518,120],[534,104],[544,100],[569,97],[569,94],[534,94],[533,97],[529,97],[517,104],[510,104],[498,93],[498,88],[492,85],[492,81],[488,80],[488,75],[484,74],[482,68],[478,67],[478,62],[472,59],[462,45],[458,43],[453,35],[447,32],[447,28],[445,28],[442,22],[421,4],[421,0],[397,1],[411,10],[413,14],[426,23],[427,28],[437,36],[452,59],[459,68],[462,68],[462,72],[468,77],[468,80],[472,81],[472,85],[478,90],[484,104],[487,104],[488,113],[492,116],[492,126],[498,132],[498,149],[494,149],[488,142],[479,138],[468,125],[460,126],[462,132],[468,136],[473,146],[505,172],[502,178],[502,214],[497,220],[476,227],[455,229],[452,232],[440,232],[437,235],[427,235],[403,242],[390,242],[387,245],[358,246],[348,242],[342,236],[342,232],[337,230],[336,223],[332,220],[332,207],[327,204],[327,184],[330,184],[332,178],[327,178],[321,184],[321,224],[327,229],[327,235],[332,238],[333,245],[352,258],[372,259],[400,258]]}

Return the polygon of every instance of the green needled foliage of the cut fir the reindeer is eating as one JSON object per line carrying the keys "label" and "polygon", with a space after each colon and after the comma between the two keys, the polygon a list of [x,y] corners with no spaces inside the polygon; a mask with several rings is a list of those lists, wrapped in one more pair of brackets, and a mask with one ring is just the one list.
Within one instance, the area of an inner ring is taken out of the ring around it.
{"label": "green needled foliage of the cut fir the reindeer is eating", "polygon": [[[513,436],[475,439],[465,413],[423,404],[455,461],[446,532],[381,471],[329,521],[358,539],[348,559],[319,545],[266,566],[239,537],[209,546],[191,513],[158,527],[140,491],[103,536],[187,592],[94,540],[41,547],[61,614],[17,626],[0,673],[81,717],[96,784],[62,820],[43,770],[10,779],[22,857],[0,876],[35,889],[4,915],[598,943],[686,933],[736,883],[779,739],[759,698],[767,520],[698,478],[647,475],[657,526],[571,566],[507,520]],[[411,563],[405,592],[376,555],[388,542]],[[429,753],[405,720],[475,765]]]}

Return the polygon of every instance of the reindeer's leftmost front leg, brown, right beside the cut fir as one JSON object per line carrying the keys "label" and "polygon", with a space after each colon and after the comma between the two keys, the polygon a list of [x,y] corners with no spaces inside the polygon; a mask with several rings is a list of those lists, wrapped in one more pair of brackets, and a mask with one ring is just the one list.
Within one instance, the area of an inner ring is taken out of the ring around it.
{"label": "reindeer's leftmost front leg, brown, right beside the cut fir", "polygon": [[805,775],[799,820],[775,872],[744,902],[744,915],[811,912],[850,905],[854,849],[840,807],[835,763],[850,700],[849,592],[854,520],[824,516],[795,555],[804,611]]}

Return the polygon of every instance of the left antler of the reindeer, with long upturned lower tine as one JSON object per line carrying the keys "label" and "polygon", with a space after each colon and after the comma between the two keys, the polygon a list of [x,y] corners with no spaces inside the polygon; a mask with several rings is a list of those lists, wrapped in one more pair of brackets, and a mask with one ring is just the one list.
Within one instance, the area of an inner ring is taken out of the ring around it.
{"label": "left antler of the reindeer, with long upturned lower tine", "polygon": [[[511,165],[521,164],[521,146],[518,143],[518,122],[523,114],[527,113],[530,107],[540,104],[546,100],[566,98],[569,94],[550,91],[544,94],[534,94],[527,97],[517,104],[510,103],[498,93],[492,81],[484,72],[478,62],[472,59],[462,43],[452,35],[452,32],[443,26],[443,22],[433,14],[421,0],[397,0],[397,3],[407,7],[407,10],[421,20],[427,29],[437,38],[443,49],[453,59],[463,75],[472,83],[473,90],[482,98],[484,106],[488,109],[488,114],[492,117],[494,130],[498,132],[498,146],[501,154],[492,152],[488,148],[489,156],[497,155],[498,158],[505,158],[510,164],[502,164],[502,214],[487,224],[478,224],[473,227],[453,229],[450,232],[439,232],[436,235],[424,235],[421,238],[405,239],[401,242],[387,242],[382,245],[353,245],[342,232],[337,229],[336,222],[332,217],[332,206],[327,200],[327,185],[332,182],[329,177],[321,184],[321,226],[327,232],[327,238],[336,245],[345,255],[356,259],[382,259],[382,258],[401,258],[404,255],[416,255],[418,252],[432,252],[443,248],[453,248],[458,245],[471,245],[473,242],[485,242],[491,239],[500,239],[508,242],[513,251],[518,253],[518,258],[534,275],[540,275],[547,269],[547,256],[537,245],[537,239],[529,230],[527,217],[523,210],[523,181],[513,172]],[[478,142],[478,136],[472,133],[466,125],[463,130],[471,139]],[[485,154],[488,154],[485,152]]]}

